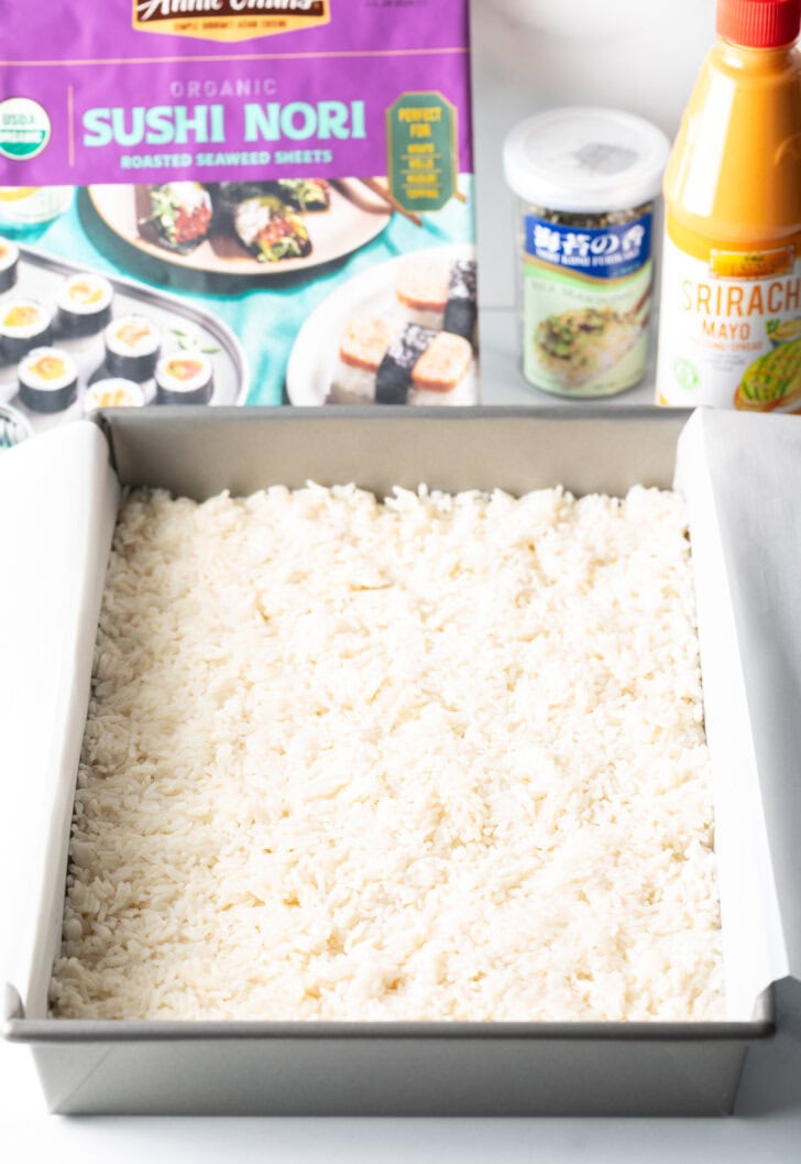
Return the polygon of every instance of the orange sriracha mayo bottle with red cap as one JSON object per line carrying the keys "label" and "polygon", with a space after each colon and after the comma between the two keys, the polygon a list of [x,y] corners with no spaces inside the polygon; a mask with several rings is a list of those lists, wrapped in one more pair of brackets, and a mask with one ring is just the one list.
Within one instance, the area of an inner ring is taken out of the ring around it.
{"label": "orange sriracha mayo bottle with red cap", "polygon": [[664,180],[657,403],[801,412],[801,0],[718,0]]}

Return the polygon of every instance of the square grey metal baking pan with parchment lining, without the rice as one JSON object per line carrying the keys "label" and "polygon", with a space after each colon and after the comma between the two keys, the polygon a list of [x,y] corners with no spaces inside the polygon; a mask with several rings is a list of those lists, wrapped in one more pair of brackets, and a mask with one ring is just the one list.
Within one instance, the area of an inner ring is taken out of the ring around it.
{"label": "square grey metal baking pan with parchment lining, without the rice", "polygon": [[[420,482],[449,491],[502,488],[513,494],[563,484],[578,495],[623,495],[641,483],[674,485],[685,494],[713,767],[724,1021],[323,1023],[48,1016],[92,653],[121,489],[160,487],[202,499],[223,489],[245,495],[276,483],[301,487],[307,480],[324,485],[355,481],[379,496],[393,485],[414,488]],[[778,608],[775,594],[770,609],[763,601],[774,573],[787,569],[787,555],[794,554],[798,562],[801,530],[793,512],[794,482],[798,498],[801,425],[794,419],[702,411],[689,417],[630,406],[602,412],[121,409],[7,454],[0,462],[0,503],[13,497],[17,528],[28,540],[16,560],[16,604],[41,611],[43,592],[52,604],[52,580],[58,579],[51,666],[45,677],[41,666],[37,672],[36,716],[41,722],[47,716],[50,724],[47,746],[31,751],[26,736],[15,753],[14,739],[8,741],[10,755],[26,765],[27,795],[36,811],[29,867],[20,875],[27,908],[17,964],[6,989],[5,1035],[31,1046],[51,1110],[730,1112],[749,1046],[774,1034],[774,992],[798,979],[801,966],[795,845],[801,782],[794,765],[801,740],[791,722],[798,716],[781,716],[782,707],[792,711],[795,705],[801,630],[791,617],[789,589],[779,595]],[[799,537],[788,546],[793,523]],[[24,624],[22,616],[20,620]],[[778,655],[777,634],[786,644]],[[17,655],[12,651],[7,658],[24,672],[30,663],[22,647]],[[23,730],[24,724],[20,737]],[[27,819],[24,812],[20,816]]]}

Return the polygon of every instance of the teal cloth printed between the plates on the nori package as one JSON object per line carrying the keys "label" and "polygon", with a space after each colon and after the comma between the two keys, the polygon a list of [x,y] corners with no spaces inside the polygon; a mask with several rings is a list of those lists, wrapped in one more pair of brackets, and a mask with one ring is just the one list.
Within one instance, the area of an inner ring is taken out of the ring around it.
{"label": "teal cloth printed between the plates on the nori package", "polygon": [[[252,275],[224,275],[177,263],[136,246],[110,229],[98,214],[91,190],[73,192],[66,210],[37,226],[0,221],[0,234],[22,247],[67,260],[84,270],[117,276],[169,291],[226,324],[244,348],[250,370],[248,404],[281,404],[286,368],[295,336],[309,314],[342,284],[395,256],[473,240],[473,192],[460,176],[460,198],[436,214],[422,214],[420,225],[400,213],[365,246],[329,263],[309,264],[291,275],[278,264]],[[321,400],[322,403],[322,400]]]}

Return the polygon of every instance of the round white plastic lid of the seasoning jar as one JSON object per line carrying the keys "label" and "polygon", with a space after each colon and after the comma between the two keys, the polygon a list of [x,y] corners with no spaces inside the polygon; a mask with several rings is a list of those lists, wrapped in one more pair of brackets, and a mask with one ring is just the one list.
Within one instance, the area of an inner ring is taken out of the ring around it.
{"label": "round white plastic lid of the seasoning jar", "polygon": [[516,126],[503,143],[506,180],[546,210],[602,214],[659,193],[670,142],[650,121],[617,109],[551,109]]}

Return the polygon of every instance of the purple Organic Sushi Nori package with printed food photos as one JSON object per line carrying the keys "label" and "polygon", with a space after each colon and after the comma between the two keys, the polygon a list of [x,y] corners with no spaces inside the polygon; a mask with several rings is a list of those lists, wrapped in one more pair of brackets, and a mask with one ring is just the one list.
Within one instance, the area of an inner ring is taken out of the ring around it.
{"label": "purple Organic Sushi Nori package with printed food photos", "polygon": [[469,28],[467,0],[79,20],[6,0],[0,405],[20,431],[478,403]]}

